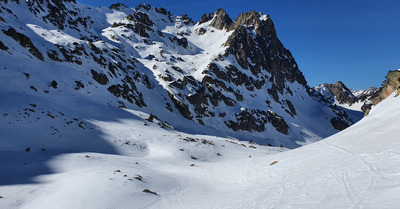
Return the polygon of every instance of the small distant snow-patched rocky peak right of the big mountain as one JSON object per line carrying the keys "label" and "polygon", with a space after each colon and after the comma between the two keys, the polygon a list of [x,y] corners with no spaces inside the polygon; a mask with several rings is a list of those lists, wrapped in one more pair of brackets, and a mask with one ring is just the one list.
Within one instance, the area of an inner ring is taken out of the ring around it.
{"label": "small distant snow-patched rocky peak right of the big mountain", "polygon": [[339,105],[350,111],[362,111],[364,113],[371,107],[372,99],[379,94],[379,89],[376,87],[354,91],[347,88],[341,81],[334,84],[321,84],[314,89],[331,104]]}

